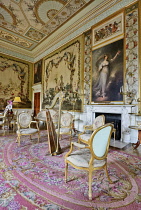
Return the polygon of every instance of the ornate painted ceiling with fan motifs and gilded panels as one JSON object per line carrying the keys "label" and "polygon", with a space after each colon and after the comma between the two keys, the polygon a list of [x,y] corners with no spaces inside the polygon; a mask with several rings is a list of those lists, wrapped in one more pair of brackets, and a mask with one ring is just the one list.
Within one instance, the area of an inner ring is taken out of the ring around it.
{"label": "ornate painted ceiling with fan motifs and gilded panels", "polygon": [[0,40],[32,51],[92,0],[0,0]]}

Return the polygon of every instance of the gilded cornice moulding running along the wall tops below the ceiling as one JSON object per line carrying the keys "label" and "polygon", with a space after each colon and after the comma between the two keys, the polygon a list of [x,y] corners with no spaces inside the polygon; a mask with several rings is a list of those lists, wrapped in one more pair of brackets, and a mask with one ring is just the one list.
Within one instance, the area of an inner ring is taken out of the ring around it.
{"label": "gilded cornice moulding running along the wall tops below the ceiling", "polygon": [[[85,31],[89,30],[93,25],[97,24],[101,20],[107,18],[107,16],[115,13],[116,11],[128,6],[131,3],[137,2],[136,0],[108,0],[96,2],[93,1],[83,11],[79,12],[75,16],[75,20],[71,20],[66,26],[62,26],[56,32],[54,32],[47,40],[43,41],[39,47],[36,47],[31,52],[27,52],[24,49],[18,49],[11,47],[9,50],[9,44],[3,43],[3,47],[0,48],[4,54],[9,54],[14,57],[18,57],[30,62],[36,62],[42,59],[49,53],[60,48],[67,42],[73,40],[77,36],[81,35]],[[97,6],[97,7],[96,7]]]}

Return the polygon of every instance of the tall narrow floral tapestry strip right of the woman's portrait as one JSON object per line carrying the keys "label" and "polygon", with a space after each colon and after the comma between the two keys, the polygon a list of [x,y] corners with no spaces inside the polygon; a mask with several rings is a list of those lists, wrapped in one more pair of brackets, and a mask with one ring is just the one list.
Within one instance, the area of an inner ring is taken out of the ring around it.
{"label": "tall narrow floral tapestry strip right of the woman's portrait", "polygon": [[125,44],[126,44],[126,71],[125,91],[132,93],[132,97],[125,95],[125,102],[132,103],[133,98],[138,98],[139,85],[139,32],[138,32],[138,4],[133,4],[126,9],[125,16]]}

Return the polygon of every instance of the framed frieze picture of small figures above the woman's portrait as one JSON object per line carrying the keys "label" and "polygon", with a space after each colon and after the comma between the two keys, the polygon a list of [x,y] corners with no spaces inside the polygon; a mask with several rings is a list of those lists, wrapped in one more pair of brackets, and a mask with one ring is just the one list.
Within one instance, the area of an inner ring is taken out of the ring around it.
{"label": "framed frieze picture of small figures above the woman's portrait", "polygon": [[118,37],[120,39],[124,33],[124,15],[123,13],[108,19],[103,24],[92,28],[92,47],[95,48],[97,45],[103,42],[113,40]]}

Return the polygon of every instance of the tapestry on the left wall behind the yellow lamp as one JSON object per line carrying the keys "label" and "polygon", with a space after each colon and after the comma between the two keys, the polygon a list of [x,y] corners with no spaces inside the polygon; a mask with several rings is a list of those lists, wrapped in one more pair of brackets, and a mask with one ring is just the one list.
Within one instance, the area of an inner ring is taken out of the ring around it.
{"label": "tapestry on the left wall behind the yellow lamp", "polygon": [[[31,108],[29,100],[29,64],[0,56],[0,106],[19,96],[20,108]],[[14,104],[13,104],[14,107]]]}

